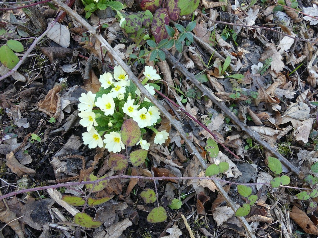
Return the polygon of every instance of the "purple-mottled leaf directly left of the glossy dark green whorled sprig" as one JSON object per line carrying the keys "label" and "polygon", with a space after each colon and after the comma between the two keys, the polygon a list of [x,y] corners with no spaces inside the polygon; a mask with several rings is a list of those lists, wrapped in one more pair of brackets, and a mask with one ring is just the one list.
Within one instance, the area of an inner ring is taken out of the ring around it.
{"label": "purple-mottled leaf directly left of the glossy dark green whorled sprig", "polygon": [[156,10],[152,19],[151,27],[153,29],[152,35],[155,37],[156,42],[168,38],[168,33],[165,25],[169,24],[168,10],[166,8],[159,8]]}

